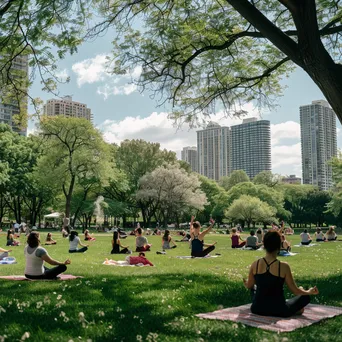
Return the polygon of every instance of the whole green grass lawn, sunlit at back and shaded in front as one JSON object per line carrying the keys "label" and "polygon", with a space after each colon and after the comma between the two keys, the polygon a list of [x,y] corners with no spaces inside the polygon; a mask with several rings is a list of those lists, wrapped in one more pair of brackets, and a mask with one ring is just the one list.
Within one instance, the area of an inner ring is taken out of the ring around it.
{"label": "whole green grass lawn, sunlit at back and shaded in front", "polygon": [[[41,233],[45,240],[46,233]],[[195,314],[250,302],[242,284],[249,265],[264,255],[259,251],[230,248],[228,235],[211,234],[217,241],[212,259],[177,259],[189,255],[187,243],[178,243],[166,255],[157,255],[161,238],[148,237],[153,244],[147,257],[156,267],[104,266],[110,255],[111,234],[98,234],[85,254],[68,254],[68,241],[47,246],[60,261],[71,258],[66,273],[82,275],[73,281],[1,281],[0,341],[342,341],[342,317],[276,334],[229,321],[202,320]],[[81,236],[83,239],[83,235]],[[16,265],[0,266],[1,275],[24,273],[24,242],[13,247]],[[290,237],[292,244],[298,236]],[[0,236],[4,247],[6,236]],[[123,240],[134,246],[134,237]],[[322,243],[311,248],[293,248],[299,254],[282,258],[291,265],[298,285],[317,285],[320,294],[313,303],[342,306],[342,242]],[[134,253],[136,255],[136,253]],[[289,294],[288,294],[289,295]]]}

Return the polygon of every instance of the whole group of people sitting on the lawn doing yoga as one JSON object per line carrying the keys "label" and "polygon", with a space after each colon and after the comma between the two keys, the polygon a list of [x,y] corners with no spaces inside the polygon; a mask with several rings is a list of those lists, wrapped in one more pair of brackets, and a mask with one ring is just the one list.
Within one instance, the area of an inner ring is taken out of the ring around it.
{"label": "whole group of people sitting on the lawn doing yoga", "polygon": [[[193,216],[190,223],[191,256],[204,257],[215,249],[216,242],[212,244],[204,243],[204,237],[212,229],[214,220],[210,220],[210,226],[208,228],[201,230],[201,224],[198,221],[194,221],[194,219]],[[304,311],[304,307],[310,302],[310,296],[319,293],[316,286],[311,287],[308,290],[298,287],[293,279],[290,266],[286,262],[281,262],[277,259],[281,250],[288,251],[290,249],[290,244],[282,233],[281,229],[271,229],[264,234],[260,229],[257,230],[256,234],[254,231],[251,231],[250,236],[246,241],[242,241],[237,230],[234,228],[232,229],[231,240],[233,248],[248,246],[252,247],[252,249],[256,249],[263,245],[266,252],[263,258],[252,263],[249,269],[248,278],[243,280],[244,286],[251,290],[251,311],[255,314],[279,317],[289,317],[300,314]],[[144,252],[150,250],[151,244],[149,244],[146,237],[143,236],[141,228],[137,228],[135,234],[136,251],[139,252],[139,256],[131,256],[130,259],[132,259],[132,263],[141,262],[153,266],[153,264],[146,259],[144,254]],[[318,229],[315,236],[316,241],[332,241],[337,238],[334,227],[329,228],[329,231],[325,236],[322,235],[322,231]],[[89,232],[86,232],[85,239],[88,241],[94,240],[94,238],[89,235]],[[301,240],[304,244],[308,241],[312,241],[307,231],[304,231],[301,234]],[[70,232],[69,241],[70,253],[85,252],[89,247],[89,245],[81,243],[76,231]],[[52,239],[50,234],[47,238],[47,244],[53,243],[56,242]],[[78,248],[78,246],[81,246],[81,248]],[[128,247],[129,246],[125,246],[121,243],[119,232],[114,231],[111,253],[130,254],[131,251]],[[173,242],[170,232],[166,230],[162,236],[162,248],[165,250],[174,247],[176,247],[176,244]],[[0,248],[0,253],[8,255],[8,252],[10,252],[10,250]],[[1,254],[0,257],[3,254]],[[24,254],[26,258],[25,276],[30,279],[55,279],[59,274],[65,272],[67,269],[66,266],[71,263],[70,259],[60,262],[51,258],[46,249],[41,247],[40,235],[36,231],[33,231],[28,235]],[[44,262],[55,267],[48,269],[44,266]],[[284,283],[286,283],[290,291],[296,295],[296,297],[287,301],[285,300],[283,290]]]}

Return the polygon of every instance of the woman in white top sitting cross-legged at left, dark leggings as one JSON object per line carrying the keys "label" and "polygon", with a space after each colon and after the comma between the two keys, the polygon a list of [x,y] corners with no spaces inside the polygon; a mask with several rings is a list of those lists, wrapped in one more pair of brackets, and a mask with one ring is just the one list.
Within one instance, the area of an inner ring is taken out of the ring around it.
{"label": "woman in white top sitting cross-legged at left, dark leggings", "polygon": [[[26,259],[25,277],[29,279],[55,279],[59,274],[66,271],[66,265],[69,265],[71,261],[67,259],[60,262],[52,259],[46,249],[39,244],[39,233],[30,233],[24,250]],[[44,266],[44,261],[56,267],[48,269]]]}

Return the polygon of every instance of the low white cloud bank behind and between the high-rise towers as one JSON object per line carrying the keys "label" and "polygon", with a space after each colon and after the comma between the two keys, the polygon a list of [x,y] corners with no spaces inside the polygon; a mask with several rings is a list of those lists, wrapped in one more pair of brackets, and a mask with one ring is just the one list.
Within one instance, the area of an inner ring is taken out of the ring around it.
{"label": "low white cloud bank behind and between the high-rise towers", "polygon": [[[255,116],[252,106],[248,116]],[[242,122],[238,118],[224,117],[223,113],[217,113],[210,119],[221,126],[232,126]],[[273,172],[301,175],[301,148],[296,122],[288,121],[271,125],[272,134],[272,166]],[[153,112],[148,117],[126,117],[121,121],[106,120],[99,128],[104,134],[106,141],[119,144],[124,139],[144,139],[150,142],[159,142],[161,148],[175,151],[178,158],[185,146],[196,146],[196,129],[190,129],[188,125],[183,125],[177,129],[173,122],[168,119],[168,113]],[[279,144],[284,139],[296,139],[292,144],[286,142]]]}

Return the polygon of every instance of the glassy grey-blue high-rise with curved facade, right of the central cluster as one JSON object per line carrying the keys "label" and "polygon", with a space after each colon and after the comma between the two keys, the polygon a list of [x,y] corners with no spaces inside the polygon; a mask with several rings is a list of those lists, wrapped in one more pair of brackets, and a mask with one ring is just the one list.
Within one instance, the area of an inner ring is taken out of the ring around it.
{"label": "glassy grey-blue high-rise with curved facade, right of the central cluster", "polygon": [[231,127],[232,170],[244,170],[250,178],[271,171],[271,128],[268,120],[244,119]]}

